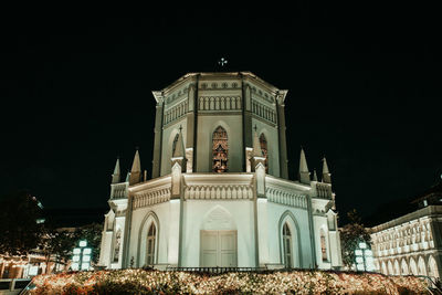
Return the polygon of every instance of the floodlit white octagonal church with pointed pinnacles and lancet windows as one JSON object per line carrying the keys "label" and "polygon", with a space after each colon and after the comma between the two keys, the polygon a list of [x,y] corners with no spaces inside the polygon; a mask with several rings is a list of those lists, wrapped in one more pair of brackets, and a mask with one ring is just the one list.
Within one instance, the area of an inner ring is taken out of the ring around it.
{"label": "floodlit white octagonal church with pointed pinnacles and lancet windows", "polygon": [[341,266],[335,193],[301,150],[288,180],[284,102],[250,72],[189,73],[156,99],[152,179],[117,160],[99,265]]}

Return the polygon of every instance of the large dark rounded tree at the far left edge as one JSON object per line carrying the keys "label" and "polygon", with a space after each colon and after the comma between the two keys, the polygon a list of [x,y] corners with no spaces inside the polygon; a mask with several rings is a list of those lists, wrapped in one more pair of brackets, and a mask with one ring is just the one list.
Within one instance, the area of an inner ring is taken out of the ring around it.
{"label": "large dark rounded tree at the far left edge", "polygon": [[21,190],[2,198],[0,208],[0,253],[27,255],[38,246],[42,235],[40,202]]}

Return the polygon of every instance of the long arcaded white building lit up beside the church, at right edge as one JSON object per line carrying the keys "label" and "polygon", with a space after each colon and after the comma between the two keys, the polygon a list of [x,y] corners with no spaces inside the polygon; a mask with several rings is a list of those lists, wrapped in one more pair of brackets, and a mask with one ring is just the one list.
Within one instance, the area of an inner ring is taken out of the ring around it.
{"label": "long arcaded white building lit up beside the church, at right edge", "polygon": [[383,274],[442,275],[442,183],[414,201],[414,212],[373,226],[372,251]]}

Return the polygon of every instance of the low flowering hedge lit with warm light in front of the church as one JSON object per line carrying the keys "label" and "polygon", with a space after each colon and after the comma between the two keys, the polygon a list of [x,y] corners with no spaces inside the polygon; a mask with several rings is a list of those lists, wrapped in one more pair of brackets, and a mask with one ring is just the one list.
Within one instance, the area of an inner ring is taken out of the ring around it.
{"label": "low flowering hedge lit with warm light in front of the church", "polygon": [[429,294],[415,276],[333,271],[204,274],[129,268],[39,275],[31,294]]}

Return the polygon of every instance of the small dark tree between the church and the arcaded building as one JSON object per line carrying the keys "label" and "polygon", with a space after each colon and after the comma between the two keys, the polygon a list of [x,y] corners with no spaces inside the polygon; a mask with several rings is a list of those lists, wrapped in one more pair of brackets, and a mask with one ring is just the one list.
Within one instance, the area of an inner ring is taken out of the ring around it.
{"label": "small dark tree between the church and the arcaded building", "polygon": [[348,268],[352,268],[356,260],[355,250],[360,242],[370,244],[371,238],[370,232],[367,230],[362,220],[354,209],[347,213],[349,223],[340,229],[340,241],[343,251],[343,263]]}

